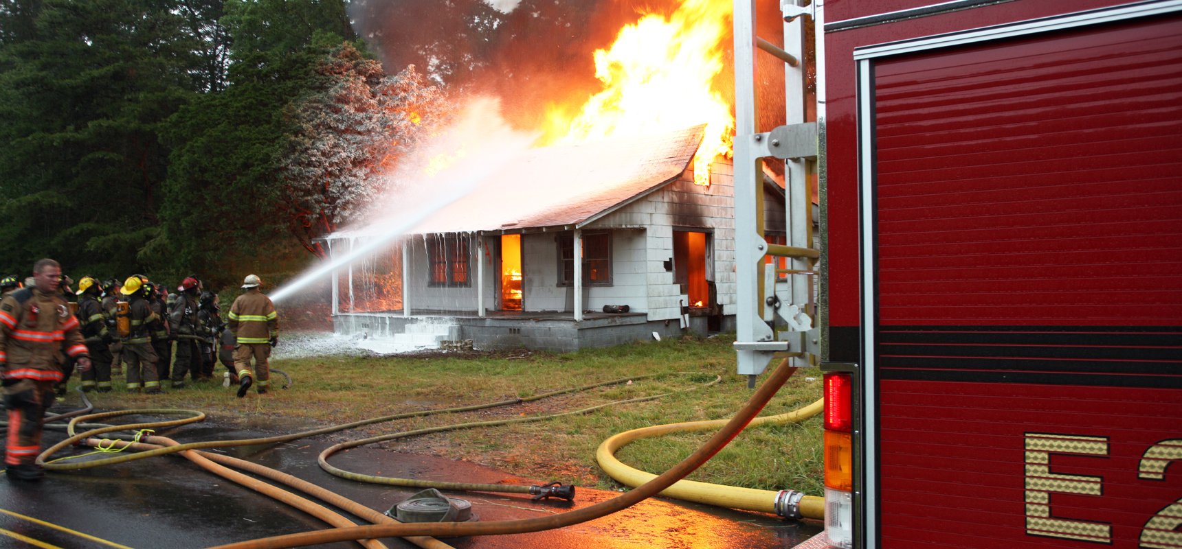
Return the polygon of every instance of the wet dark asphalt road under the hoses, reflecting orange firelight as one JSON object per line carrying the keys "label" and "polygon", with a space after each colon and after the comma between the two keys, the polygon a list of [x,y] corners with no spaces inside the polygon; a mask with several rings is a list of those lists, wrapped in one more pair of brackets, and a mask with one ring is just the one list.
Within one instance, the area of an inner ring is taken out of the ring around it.
{"label": "wet dark asphalt road under the hoses, reflecting orange firelight", "polygon": [[[63,410],[54,410],[60,412]],[[130,420],[130,419],[129,419]],[[280,434],[217,427],[216,418],[160,434],[178,442],[253,438]],[[46,431],[43,447],[65,438]],[[417,491],[340,479],[322,471],[317,455],[339,442],[316,437],[273,446],[227,449],[226,453],[260,463],[385,511]],[[66,455],[59,453],[54,457]],[[104,456],[105,457],[105,456]],[[332,463],[350,471],[392,477],[474,483],[541,484],[465,462],[397,453],[376,447],[353,449]],[[527,472],[525,473],[527,475]],[[449,494],[472,502],[481,521],[534,518],[598,503],[618,494],[579,488],[573,503],[532,502],[526,495]],[[48,473],[39,483],[0,479],[0,547],[99,548],[111,544],[59,531],[33,519],[141,549],[199,548],[326,528],[319,519],[249,489],[207,472],[180,456]],[[22,516],[14,516],[19,514]],[[361,521],[357,521],[362,523]],[[820,531],[817,522],[788,522],[771,515],[734,511],[693,503],[649,499],[589,523],[545,532],[444,540],[453,547],[513,549],[624,548],[791,548]],[[34,542],[22,542],[27,536]],[[415,547],[383,540],[391,548]],[[37,544],[40,542],[41,544]],[[356,548],[355,543],[320,545]]]}

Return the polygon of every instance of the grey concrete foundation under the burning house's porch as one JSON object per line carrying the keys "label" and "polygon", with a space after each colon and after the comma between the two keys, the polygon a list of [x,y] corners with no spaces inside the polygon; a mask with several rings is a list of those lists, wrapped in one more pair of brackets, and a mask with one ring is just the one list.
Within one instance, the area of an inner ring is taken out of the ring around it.
{"label": "grey concrete foundation under the burning house's porch", "polygon": [[476,349],[531,348],[559,353],[580,348],[611,347],[632,341],[649,341],[654,333],[661,338],[686,334],[707,335],[735,329],[734,316],[690,316],[689,327],[682,329],[676,320],[649,321],[643,313],[587,313],[576,322],[570,313],[496,313],[480,318],[472,315],[401,313],[345,313],[333,316],[337,334],[368,334],[371,338],[417,338],[426,345],[423,334],[434,333],[437,341],[472,340]]}

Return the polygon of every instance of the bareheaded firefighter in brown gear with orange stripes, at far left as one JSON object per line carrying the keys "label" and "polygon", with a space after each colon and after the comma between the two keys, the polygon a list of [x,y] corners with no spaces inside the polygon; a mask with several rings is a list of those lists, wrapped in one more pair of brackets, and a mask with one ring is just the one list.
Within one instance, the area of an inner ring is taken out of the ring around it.
{"label": "bareheaded firefighter in brown gear with orange stripes, at far left", "polygon": [[53,384],[63,378],[64,358],[74,358],[79,370],[90,370],[78,319],[58,292],[61,267],[50,259],[38,261],[33,282],[0,299],[0,384],[8,409],[5,464],[8,478],[19,481],[45,475],[34,462],[41,451],[45,411],[53,405]]}

